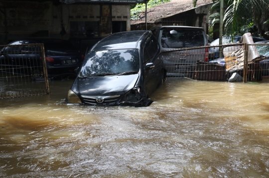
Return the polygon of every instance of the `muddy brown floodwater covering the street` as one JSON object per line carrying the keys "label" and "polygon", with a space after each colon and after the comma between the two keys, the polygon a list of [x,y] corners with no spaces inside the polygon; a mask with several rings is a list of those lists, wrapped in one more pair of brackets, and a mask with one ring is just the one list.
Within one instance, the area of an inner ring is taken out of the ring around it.
{"label": "muddy brown floodwater covering the street", "polygon": [[168,78],[134,108],[67,105],[72,82],[0,100],[0,177],[269,177],[269,83]]}

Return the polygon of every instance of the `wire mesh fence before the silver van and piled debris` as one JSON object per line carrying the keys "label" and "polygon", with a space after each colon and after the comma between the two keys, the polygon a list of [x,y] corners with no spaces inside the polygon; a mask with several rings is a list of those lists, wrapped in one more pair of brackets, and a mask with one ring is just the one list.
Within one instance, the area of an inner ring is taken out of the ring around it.
{"label": "wire mesh fence before the silver van and piled debris", "polygon": [[269,44],[230,44],[162,52],[168,77],[248,82],[269,78]]}

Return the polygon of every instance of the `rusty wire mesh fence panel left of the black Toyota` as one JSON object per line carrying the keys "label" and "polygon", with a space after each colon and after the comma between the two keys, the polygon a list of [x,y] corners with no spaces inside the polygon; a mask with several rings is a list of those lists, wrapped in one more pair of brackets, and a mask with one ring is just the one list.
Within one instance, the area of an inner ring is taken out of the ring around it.
{"label": "rusty wire mesh fence panel left of the black Toyota", "polygon": [[0,99],[50,93],[43,44],[0,49]]}

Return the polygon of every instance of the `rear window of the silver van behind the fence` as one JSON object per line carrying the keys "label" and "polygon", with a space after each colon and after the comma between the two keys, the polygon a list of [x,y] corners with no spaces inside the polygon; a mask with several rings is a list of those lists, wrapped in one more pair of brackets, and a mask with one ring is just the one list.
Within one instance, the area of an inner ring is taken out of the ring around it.
{"label": "rear window of the silver van behind the fence", "polygon": [[[173,34],[170,31],[176,31]],[[163,48],[187,48],[204,46],[205,39],[202,30],[191,29],[163,29],[161,46]]]}

